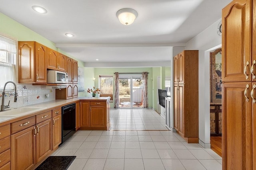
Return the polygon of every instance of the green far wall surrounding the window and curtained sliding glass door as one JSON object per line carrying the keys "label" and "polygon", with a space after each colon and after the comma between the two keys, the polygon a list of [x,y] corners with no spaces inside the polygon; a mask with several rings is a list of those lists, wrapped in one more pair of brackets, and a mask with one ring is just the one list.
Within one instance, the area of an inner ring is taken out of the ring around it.
{"label": "green far wall surrounding the window and curtained sliding glass door", "polygon": [[[153,70],[152,67],[136,67],[136,68],[94,68],[94,76],[95,76],[95,87],[99,86],[99,76],[104,75],[112,75],[113,81],[114,81],[114,72],[125,72],[125,73],[133,73],[133,72],[149,72],[148,74],[148,107],[153,107],[153,96],[152,96],[152,90],[153,90],[153,83],[152,77],[153,77]],[[114,82],[113,82],[114,84]],[[114,87],[113,87],[114,92]],[[110,103],[110,107],[114,107],[114,102]]]}

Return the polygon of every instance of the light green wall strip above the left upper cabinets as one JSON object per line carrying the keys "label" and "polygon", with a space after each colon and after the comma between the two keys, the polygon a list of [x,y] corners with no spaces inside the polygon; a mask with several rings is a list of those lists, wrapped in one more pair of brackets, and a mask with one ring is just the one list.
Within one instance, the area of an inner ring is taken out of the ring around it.
{"label": "light green wall strip above the left upper cabinets", "polygon": [[[17,41],[36,41],[38,43],[45,45],[46,47],[59,51],[60,53],[72,59],[77,60],[78,66],[84,67],[84,63],[82,61],[56,48],[55,44],[52,41],[42,37],[38,33],[32,31],[28,27],[25,27],[24,25],[18,23],[17,21],[13,20],[12,18],[9,18],[8,16],[2,13],[0,13],[0,34],[6,35],[8,37],[12,37]],[[85,92],[78,93],[78,96],[84,96],[84,95],[85,95]]]}

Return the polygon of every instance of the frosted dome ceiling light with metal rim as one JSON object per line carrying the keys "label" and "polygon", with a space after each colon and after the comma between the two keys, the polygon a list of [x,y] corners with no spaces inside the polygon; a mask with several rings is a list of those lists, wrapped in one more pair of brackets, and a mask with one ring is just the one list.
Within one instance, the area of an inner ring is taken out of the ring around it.
{"label": "frosted dome ceiling light with metal rim", "polygon": [[138,13],[133,9],[124,8],[116,12],[116,16],[122,24],[130,25],[134,22]]}

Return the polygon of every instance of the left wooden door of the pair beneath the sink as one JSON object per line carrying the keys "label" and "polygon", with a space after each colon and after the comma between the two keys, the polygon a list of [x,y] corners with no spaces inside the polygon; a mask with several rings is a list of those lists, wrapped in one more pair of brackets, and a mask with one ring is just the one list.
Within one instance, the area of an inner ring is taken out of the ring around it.
{"label": "left wooden door of the pair beneath the sink", "polygon": [[11,135],[12,170],[31,169],[36,164],[36,135],[34,128],[32,126]]}

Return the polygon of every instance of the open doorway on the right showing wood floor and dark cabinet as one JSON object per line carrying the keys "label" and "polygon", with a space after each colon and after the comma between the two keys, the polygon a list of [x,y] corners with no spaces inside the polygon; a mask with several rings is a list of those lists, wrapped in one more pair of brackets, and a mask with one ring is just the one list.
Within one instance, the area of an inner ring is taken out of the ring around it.
{"label": "open doorway on the right showing wood floor and dark cabinet", "polygon": [[210,144],[222,156],[222,49],[210,53]]}

